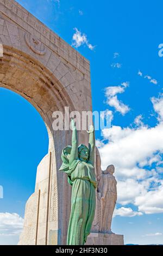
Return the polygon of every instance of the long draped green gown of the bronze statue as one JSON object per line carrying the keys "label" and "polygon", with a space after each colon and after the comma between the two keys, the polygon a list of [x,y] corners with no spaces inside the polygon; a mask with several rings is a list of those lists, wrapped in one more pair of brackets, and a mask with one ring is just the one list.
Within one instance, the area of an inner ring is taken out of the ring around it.
{"label": "long draped green gown of the bronze statue", "polygon": [[72,185],[67,245],[84,245],[95,216],[97,187],[95,168],[91,163],[79,159],[74,160],[69,167],[67,163],[60,168],[68,174],[68,182]]}

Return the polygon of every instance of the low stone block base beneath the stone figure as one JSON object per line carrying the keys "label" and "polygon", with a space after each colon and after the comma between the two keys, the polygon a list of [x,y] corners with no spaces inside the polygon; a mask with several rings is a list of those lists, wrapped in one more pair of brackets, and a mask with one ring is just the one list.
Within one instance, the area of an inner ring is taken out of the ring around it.
{"label": "low stone block base beneath the stone figure", "polygon": [[123,235],[90,233],[85,245],[124,245]]}

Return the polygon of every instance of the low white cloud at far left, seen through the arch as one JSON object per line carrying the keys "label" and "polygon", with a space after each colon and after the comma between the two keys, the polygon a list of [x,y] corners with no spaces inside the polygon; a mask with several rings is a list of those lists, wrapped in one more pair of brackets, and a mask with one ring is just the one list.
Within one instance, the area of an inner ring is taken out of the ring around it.
{"label": "low white cloud at far left, seen through the arch", "polygon": [[0,213],[0,237],[18,236],[23,228],[23,218],[9,212]]}

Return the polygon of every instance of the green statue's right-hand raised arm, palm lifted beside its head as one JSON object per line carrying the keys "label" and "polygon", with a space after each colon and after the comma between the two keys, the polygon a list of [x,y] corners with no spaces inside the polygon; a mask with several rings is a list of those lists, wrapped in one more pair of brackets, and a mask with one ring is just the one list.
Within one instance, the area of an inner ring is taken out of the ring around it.
{"label": "green statue's right-hand raised arm, palm lifted beside its head", "polygon": [[87,131],[90,134],[89,137],[89,160],[88,162],[94,166],[95,163],[95,131],[93,125],[90,125],[90,130]]}

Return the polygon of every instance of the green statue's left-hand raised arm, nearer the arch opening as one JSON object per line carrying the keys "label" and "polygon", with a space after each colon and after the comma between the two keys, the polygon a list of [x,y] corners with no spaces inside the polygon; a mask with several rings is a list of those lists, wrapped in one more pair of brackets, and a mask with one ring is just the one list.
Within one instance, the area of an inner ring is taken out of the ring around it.
{"label": "green statue's left-hand raised arm, nearer the arch opening", "polygon": [[71,127],[72,127],[72,149],[70,154],[70,164],[78,159],[78,136],[77,129],[74,125],[74,120],[71,119]]}

